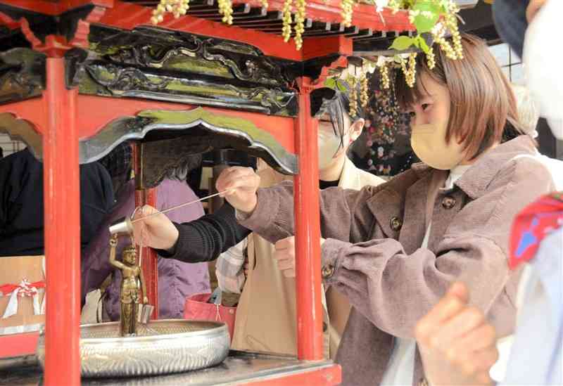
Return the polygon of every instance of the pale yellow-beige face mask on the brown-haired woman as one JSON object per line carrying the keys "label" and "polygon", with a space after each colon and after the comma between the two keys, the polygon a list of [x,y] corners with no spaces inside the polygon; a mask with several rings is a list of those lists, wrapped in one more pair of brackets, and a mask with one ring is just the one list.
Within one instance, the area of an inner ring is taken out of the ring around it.
{"label": "pale yellow-beige face mask on the brown-haired woman", "polygon": [[434,169],[453,169],[462,162],[463,146],[454,139],[445,143],[448,121],[431,124],[411,124],[410,145],[417,157]]}

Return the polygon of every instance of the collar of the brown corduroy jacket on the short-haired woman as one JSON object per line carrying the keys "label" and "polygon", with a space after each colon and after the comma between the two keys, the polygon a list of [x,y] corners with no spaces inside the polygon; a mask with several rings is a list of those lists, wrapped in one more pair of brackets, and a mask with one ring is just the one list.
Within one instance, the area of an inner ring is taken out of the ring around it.
{"label": "collar of the brown corduroy jacket on the short-haired woman", "polygon": [[[467,169],[467,172],[455,182],[470,198],[479,198],[485,193],[493,178],[502,170],[506,163],[517,155],[536,155],[536,145],[529,136],[521,135],[505,143],[500,143],[493,150],[488,151]],[[422,176],[432,168],[418,162],[412,165],[412,170]]]}

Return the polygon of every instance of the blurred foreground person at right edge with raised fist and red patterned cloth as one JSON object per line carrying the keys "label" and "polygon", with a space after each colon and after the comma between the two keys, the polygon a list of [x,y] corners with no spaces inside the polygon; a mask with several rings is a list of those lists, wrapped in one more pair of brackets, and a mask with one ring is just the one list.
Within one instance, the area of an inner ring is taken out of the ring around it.
{"label": "blurred foreground person at right edge with raised fist and red patterned cloth", "polygon": [[[550,67],[560,65],[560,50],[540,51],[538,56],[538,47],[533,46],[559,33],[563,2],[496,0],[493,11],[502,39],[524,59],[526,70],[536,74],[528,77],[529,87],[536,94],[542,89],[547,95],[563,94],[562,75],[550,72]],[[546,72],[550,84],[536,83]],[[552,133],[563,139],[557,123],[563,122],[563,95],[533,99],[540,111],[549,113],[545,115]],[[562,192],[536,200],[516,216],[510,252],[510,268],[523,272],[514,345],[502,383],[563,385]],[[431,385],[493,384],[488,375],[498,357],[498,335],[481,309],[469,305],[471,300],[467,286],[455,283],[417,323],[416,337]]]}

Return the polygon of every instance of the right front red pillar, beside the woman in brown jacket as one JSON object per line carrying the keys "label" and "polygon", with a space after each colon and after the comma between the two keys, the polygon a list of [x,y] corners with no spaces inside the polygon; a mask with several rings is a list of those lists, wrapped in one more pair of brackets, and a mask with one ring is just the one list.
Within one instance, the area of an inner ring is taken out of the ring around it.
{"label": "right front red pillar, beside the woman in brown jacket", "polygon": [[323,353],[318,121],[311,117],[308,78],[299,79],[299,115],[295,146],[299,174],[295,177],[296,293],[298,359],[320,360]]}

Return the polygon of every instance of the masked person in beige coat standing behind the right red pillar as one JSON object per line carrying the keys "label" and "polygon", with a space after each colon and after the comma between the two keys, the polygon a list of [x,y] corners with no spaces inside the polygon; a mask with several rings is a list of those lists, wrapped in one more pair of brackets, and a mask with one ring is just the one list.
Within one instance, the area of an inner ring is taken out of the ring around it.
{"label": "masked person in beige coat standing behind the right red pillar", "polygon": [[[356,91],[357,92],[357,91]],[[362,134],[363,111],[350,117],[348,92],[319,89],[311,95],[313,111],[320,110],[319,188],[340,186],[360,190],[383,179],[355,167],[348,148]],[[322,104],[322,106],[321,106]],[[260,186],[289,179],[265,167],[258,172]],[[234,349],[297,354],[296,282],[293,262],[278,248],[294,247],[293,238],[274,245],[252,233],[217,259],[217,280],[222,290],[240,293],[232,347]],[[245,256],[246,255],[246,256]],[[277,259],[277,257],[281,257]],[[247,260],[247,274],[243,264]],[[325,288],[323,299],[324,354],[334,358],[350,314],[350,302],[334,288]],[[283,305],[283,307],[279,307]],[[264,323],[265,319],[268,323]],[[327,344],[329,341],[329,344]]]}

